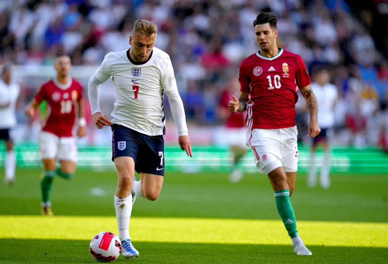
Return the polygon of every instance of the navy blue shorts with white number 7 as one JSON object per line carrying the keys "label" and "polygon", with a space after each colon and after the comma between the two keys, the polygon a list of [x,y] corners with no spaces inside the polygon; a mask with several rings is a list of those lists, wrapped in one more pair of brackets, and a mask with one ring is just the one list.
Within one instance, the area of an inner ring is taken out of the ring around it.
{"label": "navy blue shorts with white number 7", "polygon": [[165,141],[163,135],[149,136],[128,127],[113,124],[112,161],[127,156],[135,161],[137,173],[165,176]]}

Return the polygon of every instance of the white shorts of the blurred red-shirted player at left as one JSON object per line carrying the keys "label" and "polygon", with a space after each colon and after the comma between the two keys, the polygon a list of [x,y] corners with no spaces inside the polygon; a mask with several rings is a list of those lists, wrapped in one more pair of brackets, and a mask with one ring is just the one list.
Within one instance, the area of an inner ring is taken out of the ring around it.
{"label": "white shorts of the blurred red-shirted player at left", "polygon": [[77,145],[74,137],[58,137],[50,132],[39,133],[41,159],[58,159],[77,162]]}

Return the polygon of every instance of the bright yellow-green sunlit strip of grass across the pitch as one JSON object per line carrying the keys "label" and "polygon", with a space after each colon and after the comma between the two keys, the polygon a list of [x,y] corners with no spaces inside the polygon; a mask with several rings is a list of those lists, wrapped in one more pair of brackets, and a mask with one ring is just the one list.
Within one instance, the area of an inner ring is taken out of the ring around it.
{"label": "bright yellow-green sunlit strip of grass across the pitch", "polygon": [[[387,223],[298,221],[297,225],[306,245],[388,247]],[[114,217],[0,216],[0,226],[0,238],[90,240],[101,231],[118,235]],[[133,217],[130,234],[134,242],[291,243],[276,220]]]}

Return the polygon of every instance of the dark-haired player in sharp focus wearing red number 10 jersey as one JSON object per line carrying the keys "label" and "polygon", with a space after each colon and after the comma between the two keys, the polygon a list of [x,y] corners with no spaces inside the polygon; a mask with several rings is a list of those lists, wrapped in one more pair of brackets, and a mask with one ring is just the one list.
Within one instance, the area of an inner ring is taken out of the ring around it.
{"label": "dark-haired player in sharp focus wearing red number 10 jersey", "polygon": [[247,111],[247,141],[260,172],[268,175],[275,192],[277,211],[291,237],[294,252],[311,255],[298,236],[293,207],[289,200],[295,188],[298,144],[295,104],[300,89],[310,113],[307,136],[315,137],[317,98],[299,55],[277,47],[277,17],[260,12],[253,26],[260,51],[242,61],[239,68],[240,98],[229,102],[231,112]]}

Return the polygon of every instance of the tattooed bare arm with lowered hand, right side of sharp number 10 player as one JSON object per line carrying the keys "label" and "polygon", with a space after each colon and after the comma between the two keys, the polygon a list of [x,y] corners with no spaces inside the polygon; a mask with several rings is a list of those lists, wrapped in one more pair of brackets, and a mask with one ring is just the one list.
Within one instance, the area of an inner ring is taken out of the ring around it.
{"label": "tattooed bare arm with lowered hand, right side of sharp number 10 player", "polygon": [[311,88],[311,85],[305,86],[300,89],[300,93],[306,100],[306,108],[310,114],[310,123],[308,124],[307,136],[316,137],[320,133],[318,125],[318,103],[317,98]]}

